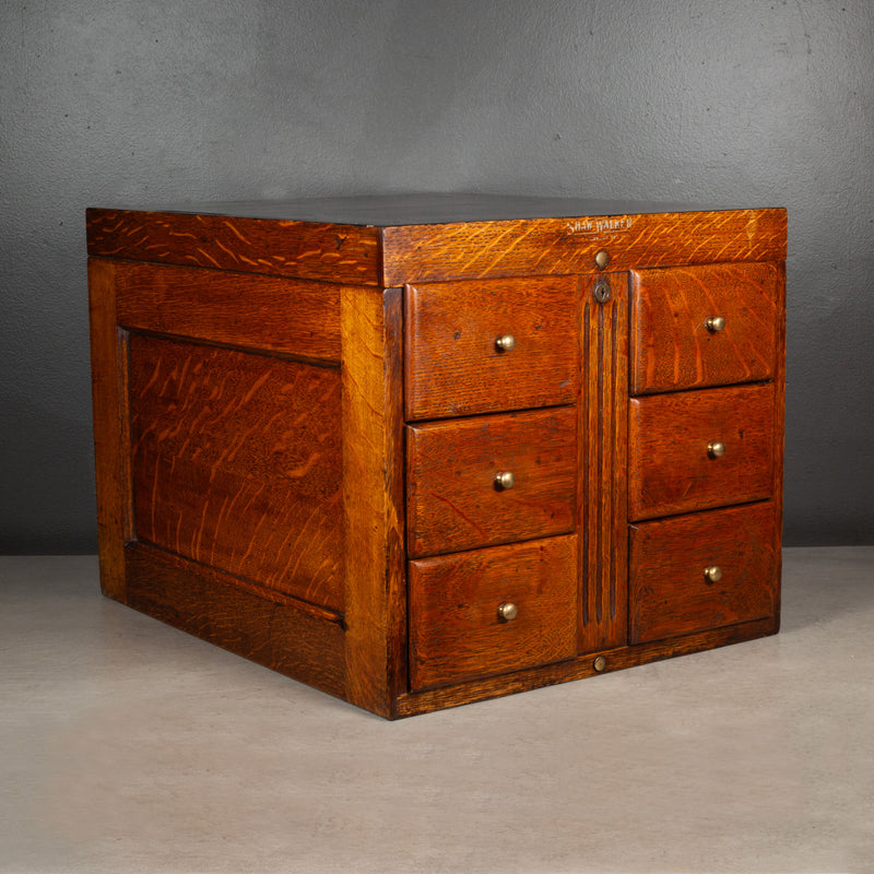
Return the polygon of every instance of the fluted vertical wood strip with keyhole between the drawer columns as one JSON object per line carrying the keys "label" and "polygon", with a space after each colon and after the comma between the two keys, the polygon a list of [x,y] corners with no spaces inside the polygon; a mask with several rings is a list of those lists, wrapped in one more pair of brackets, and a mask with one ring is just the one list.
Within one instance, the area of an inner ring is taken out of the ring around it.
{"label": "fluted vertical wood strip with keyhole between the drawer columns", "polygon": [[[598,281],[611,286],[603,304],[593,295]],[[623,643],[627,626],[628,280],[587,277],[582,290],[578,646],[590,652]]]}

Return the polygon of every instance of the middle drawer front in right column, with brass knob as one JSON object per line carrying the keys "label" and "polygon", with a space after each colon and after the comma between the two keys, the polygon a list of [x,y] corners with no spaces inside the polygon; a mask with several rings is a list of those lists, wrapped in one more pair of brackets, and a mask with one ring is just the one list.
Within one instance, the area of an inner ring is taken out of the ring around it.
{"label": "middle drawer front in right column, with brass knob", "polygon": [[629,401],[628,518],[770,497],[773,392],[740,386]]}

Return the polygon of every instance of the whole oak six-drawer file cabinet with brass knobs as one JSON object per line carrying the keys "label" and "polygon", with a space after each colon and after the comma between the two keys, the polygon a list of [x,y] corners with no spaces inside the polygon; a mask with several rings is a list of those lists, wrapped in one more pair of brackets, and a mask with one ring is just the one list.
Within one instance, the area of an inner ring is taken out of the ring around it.
{"label": "whole oak six-drawer file cabinet with brass knobs", "polygon": [[90,210],[104,592],[388,718],[773,634],[786,231]]}

